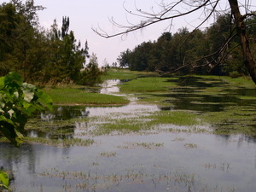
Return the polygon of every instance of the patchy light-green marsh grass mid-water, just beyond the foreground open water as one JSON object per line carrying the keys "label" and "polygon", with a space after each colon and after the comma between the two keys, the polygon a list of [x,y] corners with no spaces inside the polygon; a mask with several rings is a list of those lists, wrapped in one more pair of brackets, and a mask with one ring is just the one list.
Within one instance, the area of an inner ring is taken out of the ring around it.
{"label": "patchy light-green marsh grass mid-water, just beyond the foreground open water", "polygon": [[200,114],[189,111],[158,111],[136,116],[119,114],[119,118],[105,117],[102,123],[90,119],[90,126],[95,126],[90,131],[94,136],[147,134],[150,131],[210,132]]}

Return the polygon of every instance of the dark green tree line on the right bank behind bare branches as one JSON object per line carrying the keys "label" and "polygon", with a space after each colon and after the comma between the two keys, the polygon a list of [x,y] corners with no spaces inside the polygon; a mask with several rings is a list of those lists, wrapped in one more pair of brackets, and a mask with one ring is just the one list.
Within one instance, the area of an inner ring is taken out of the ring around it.
{"label": "dark green tree line on the right bank behind bare branches", "polygon": [[[135,71],[178,72],[182,74],[214,74],[232,77],[247,75],[238,37],[230,37],[236,30],[231,15],[219,15],[204,31],[189,32],[186,27],[172,34],[164,32],[154,42],[143,42],[134,49],[126,49],[118,57],[119,67]],[[246,20],[248,38],[256,32],[255,17]],[[232,39],[232,41],[230,41]],[[255,42],[251,43],[252,52]]]}

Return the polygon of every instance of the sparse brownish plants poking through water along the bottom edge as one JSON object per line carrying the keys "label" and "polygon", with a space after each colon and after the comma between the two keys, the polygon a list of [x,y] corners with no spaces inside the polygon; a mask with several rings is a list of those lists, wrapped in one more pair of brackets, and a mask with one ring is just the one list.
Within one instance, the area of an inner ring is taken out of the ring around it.
{"label": "sparse brownish plants poking through water along the bottom edge", "polygon": [[[102,189],[121,190],[132,188],[132,185],[140,184],[141,187],[156,189],[159,185],[165,186],[166,190],[178,191],[226,191],[234,192],[236,188],[232,186],[221,187],[215,185],[214,188],[202,183],[202,179],[195,173],[183,172],[181,169],[162,174],[147,174],[135,170],[126,170],[123,174],[98,175],[91,172],[60,172],[52,169],[49,172],[39,174],[40,177],[60,178],[69,181],[62,185],[62,189],[68,191],[101,191]],[[70,182],[73,183],[69,184]]]}

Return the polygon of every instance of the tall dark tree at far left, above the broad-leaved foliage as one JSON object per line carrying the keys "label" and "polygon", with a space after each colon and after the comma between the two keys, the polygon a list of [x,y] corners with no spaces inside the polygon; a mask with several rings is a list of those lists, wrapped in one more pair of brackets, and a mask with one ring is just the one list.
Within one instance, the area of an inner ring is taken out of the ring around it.
{"label": "tall dark tree at far left, above the broad-leaved foliage", "polygon": [[[0,6],[0,75],[17,71],[23,78],[32,78],[32,72],[39,66],[42,51],[42,37],[38,31],[36,11],[42,10],[33,1],[15,0]],[[41,49],[38,51],[38,49]]]}

